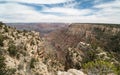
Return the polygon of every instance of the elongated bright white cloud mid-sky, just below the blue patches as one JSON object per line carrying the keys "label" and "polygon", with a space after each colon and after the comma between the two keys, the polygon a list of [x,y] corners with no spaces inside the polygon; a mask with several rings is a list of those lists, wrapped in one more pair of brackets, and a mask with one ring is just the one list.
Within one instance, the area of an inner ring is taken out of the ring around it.
{"label": "elongated bright white cloud mid-sky, just below the blue patches", "polygon": [[80,15],[87,15],[92,11],[89,9],[74,9],[74,8],[64,8],[64,7],[54,7],[54,8],[47,8],[44,9],[42,12],[52,12],[52,13],[59,13],[63,15],[69,16],[80,16]]}

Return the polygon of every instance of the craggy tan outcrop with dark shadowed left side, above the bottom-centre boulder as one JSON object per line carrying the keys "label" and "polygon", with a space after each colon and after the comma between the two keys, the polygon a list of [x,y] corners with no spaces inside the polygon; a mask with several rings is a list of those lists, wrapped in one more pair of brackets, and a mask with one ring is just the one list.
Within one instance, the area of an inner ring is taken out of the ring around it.
{"label": "craggy tan outcrop with dark shadowed left side, above the bottom-centre boulder", "polygon": [[65,69],[76,68],[81,69],[82,53],[74,48],[68,48],[66,53]]}

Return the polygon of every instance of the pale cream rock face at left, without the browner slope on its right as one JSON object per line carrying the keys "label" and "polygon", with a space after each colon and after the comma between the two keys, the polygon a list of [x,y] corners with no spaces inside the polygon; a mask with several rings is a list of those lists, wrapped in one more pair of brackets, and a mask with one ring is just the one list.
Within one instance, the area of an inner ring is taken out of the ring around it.
{"label": "pale cream rock face at left, without the browner slope on its right", "polygon": [[4,50],[6,68],[14,69],[14,75],[50,75],[42,61],[44,41],[38,32],[18,31],[1,24],[0,35],[6,37],[0,47]]}

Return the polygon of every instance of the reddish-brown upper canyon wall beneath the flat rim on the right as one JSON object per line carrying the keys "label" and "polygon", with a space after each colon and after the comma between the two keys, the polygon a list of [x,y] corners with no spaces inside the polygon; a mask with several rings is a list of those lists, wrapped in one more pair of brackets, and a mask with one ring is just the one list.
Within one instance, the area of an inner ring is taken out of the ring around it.
{"label": "reddish-brown upper canyon wall beneath the flat rim on the right", "polygon": [[[112,27],[113,26],[113,27]],[[54,44],[58,44],[62,49],[68,47],[76,47],[79,42],[91,43],[96,40],[97,35],[102,36],[114,35],[120,31],[114,25],[98,25],[98,24],[71,24],[68,28],[58,30],[49,35]],[[100,32],[100,33],[99,33]]]}

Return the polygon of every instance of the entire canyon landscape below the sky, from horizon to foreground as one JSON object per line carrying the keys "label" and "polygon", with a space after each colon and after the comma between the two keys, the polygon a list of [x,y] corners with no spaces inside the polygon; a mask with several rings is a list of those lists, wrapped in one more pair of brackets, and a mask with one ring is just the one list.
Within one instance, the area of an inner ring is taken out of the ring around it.
{"label": "entire canyon landscape below the sky, from horizon to foreground", "polygon": [[119,75],[120,25],[1,22],[0,53],[0,75]]}

